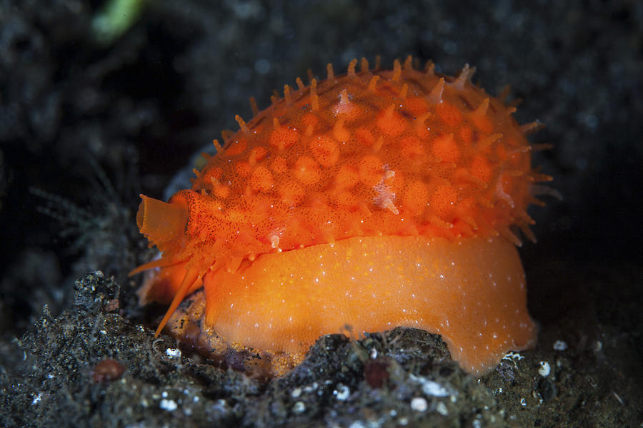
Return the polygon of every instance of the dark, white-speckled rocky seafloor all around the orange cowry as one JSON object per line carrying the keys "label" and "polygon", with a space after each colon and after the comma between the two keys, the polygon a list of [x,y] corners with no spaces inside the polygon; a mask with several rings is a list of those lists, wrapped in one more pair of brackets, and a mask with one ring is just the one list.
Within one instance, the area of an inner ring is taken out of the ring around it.
{"label": "dark, white-speckled rocky seafloor all around the orange cowry", "polygon": [[[0,2],[1,424],[643,423],[639,2],[139,3],[112,34],[116,1]],[[307,68],[409,54],[477,66],[474,81],[522,99],[520,122],[546,125],[534,163],[563,198],[530,210],[539,242],[520,250],[537,347],[477,379],[437,335],[332,335],[266,381],[154,339],[164,308],[139,307],[126,277],[152,252],[138,194],[161,198],[251,116],[249,96],[266,106]]]}

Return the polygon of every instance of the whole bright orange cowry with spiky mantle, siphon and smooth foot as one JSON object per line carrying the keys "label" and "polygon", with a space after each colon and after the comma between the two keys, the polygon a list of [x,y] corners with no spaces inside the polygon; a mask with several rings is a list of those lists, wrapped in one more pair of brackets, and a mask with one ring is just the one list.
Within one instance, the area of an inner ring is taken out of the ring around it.
{"label": "whole bright orange cowry with spiky mantle, siphon and smooth foot", "polygon": [[[320,336],[416,327],[472,374],[534,345],[515,245],[532,238],[524,133],[498,98],[458,77],[369,69],[284,88],[169,203],[137,223],[159,260],[146,300],[201,286],[202,326],[246,347],[305,352]],[[256,108],[255,108],[256,110]]]}

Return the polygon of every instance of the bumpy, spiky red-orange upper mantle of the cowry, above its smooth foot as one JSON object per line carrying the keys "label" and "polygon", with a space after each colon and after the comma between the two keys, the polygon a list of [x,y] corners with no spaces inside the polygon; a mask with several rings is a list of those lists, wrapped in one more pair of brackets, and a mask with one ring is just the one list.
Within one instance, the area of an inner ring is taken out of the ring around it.
{"label": "bumpy, spiky red-orange upper mantle of the cowry, above its smooth foot", "polygon": [[534,174],[512,108],[470,83],[468,67],[450,78],[411,61],[356,63],[239,118],[241,130],[171,200],[189,208],[184,233],[149,233],[164,258],[202,273],[351,236],[515,240],[509,227],[526,229]]}

